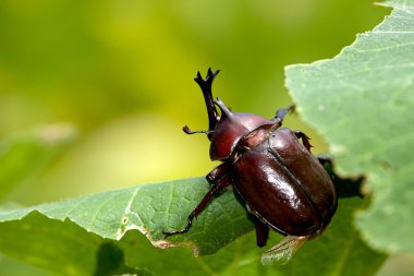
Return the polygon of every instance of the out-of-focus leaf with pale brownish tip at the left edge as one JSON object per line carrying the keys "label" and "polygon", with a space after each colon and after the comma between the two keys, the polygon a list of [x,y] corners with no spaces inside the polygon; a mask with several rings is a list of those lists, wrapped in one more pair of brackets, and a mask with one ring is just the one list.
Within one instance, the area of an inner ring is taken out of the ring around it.
{"label": "out-of-focus leaf with pale brownish tip at the left edge", "polygon": [[22,181],[45,169],[75,135],[73,125],[51,124],[0,141],[0,200]]}

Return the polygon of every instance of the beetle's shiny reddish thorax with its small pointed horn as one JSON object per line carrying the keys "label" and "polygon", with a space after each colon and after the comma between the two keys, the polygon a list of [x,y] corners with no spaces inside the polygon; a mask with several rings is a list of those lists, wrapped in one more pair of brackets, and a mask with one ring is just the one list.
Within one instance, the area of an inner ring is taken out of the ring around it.
{"label": "beetle's shiny reddish thorax with its small pointed horn", "polygon": [[212,130],[211,160],[229,158],[242,137],[261,125],[272,125],[275,123],[257,115],[232,112],[219,98],[214,103],[220,108],[221,115]]}

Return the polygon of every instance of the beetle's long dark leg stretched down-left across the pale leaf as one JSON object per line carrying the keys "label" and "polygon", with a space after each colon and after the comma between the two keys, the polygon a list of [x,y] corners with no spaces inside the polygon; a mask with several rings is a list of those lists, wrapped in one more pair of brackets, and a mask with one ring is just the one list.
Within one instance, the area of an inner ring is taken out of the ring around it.
{"label": "beetle's long dark leg stretched down-left across the pale leaf", "polygon": [[165,238],[168,238],[171,235],[176,233],[185,233],[190,230],[193,224],[193,219],[196,218],[207,206],[208,202],[211,200],[211,197],[217,194],[219,191],[221,191],[223,188],[231,184],[231,178],[230,175],[226,175],[224,177],[220,178],[216,185],[211,187],[211,189],[206,193],[206,195],[203,197],[202,202],[193,209],[193,212],[188,216],[187,225],[182,230],[176,231],[162,231],[165,235]]}

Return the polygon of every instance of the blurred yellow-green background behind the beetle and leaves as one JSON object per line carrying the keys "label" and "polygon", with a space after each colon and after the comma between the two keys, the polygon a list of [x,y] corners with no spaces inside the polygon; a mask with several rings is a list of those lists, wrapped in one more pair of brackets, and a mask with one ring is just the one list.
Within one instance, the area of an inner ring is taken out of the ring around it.
{"label": "blurred yellow-green background behind the beetle and leaves", "polygon": [[[207,127],[198,70],[221,70],[214,93],[228,106],[270,118],[292,104],[284,65],[333,57],[388,12],[372,0],[2,0],[0,156],[14,153],[3,164],[15,169],[0,199],[206,175],[208,141],[181,131]],[[327,151],[297,116],[287,124]],[[44,275],[4,257],[0,267]]]}

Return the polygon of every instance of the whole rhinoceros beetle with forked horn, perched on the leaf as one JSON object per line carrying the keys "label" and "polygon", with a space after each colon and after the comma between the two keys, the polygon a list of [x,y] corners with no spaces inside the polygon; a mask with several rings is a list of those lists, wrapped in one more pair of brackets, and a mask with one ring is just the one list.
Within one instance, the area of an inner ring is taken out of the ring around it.
{"label": "whole rhinoceros beetle with forked horn, perched on the leaf", "polygon": [[208,69],[205,79],[199,72],[194,79],[204,95],[208,130],[191,131],[186,125],[183,130],[186,134],[206,134],[211,142],[210,159],[221,164],[206,176],[210,190],[190,214],[186,227],[163,235],[187,232],[212,196],[232,185],[256,218],[258,247],[266,245],[269,229],[285,236],[265,252],[263,262],[289,261],[304,241],[319,236],[329,225],[337,209],[333,183],[321,165],[324,160],[310,153],[309,137],[281,128],[293,106],[279,109],[270,120],[233,112],[219,98],[212,98],[211,86],[219,72]]}

